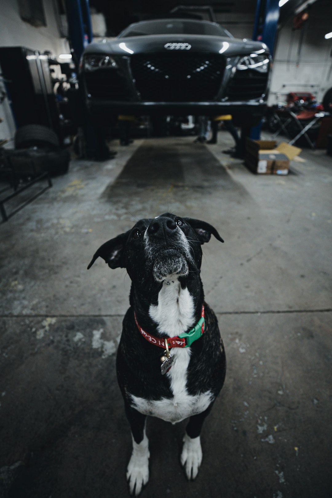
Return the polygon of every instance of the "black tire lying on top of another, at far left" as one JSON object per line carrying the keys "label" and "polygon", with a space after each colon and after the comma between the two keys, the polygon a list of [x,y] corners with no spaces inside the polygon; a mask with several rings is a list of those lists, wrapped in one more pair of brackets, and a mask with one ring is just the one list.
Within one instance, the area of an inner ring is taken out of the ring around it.
{"label": "black tire lying on top of another, at far left", "polygon": [[16,130],[15,148],[27,149],[29,147],[56,150],[59,148],[59,139],[52,129],[42,124],[27,124]]}

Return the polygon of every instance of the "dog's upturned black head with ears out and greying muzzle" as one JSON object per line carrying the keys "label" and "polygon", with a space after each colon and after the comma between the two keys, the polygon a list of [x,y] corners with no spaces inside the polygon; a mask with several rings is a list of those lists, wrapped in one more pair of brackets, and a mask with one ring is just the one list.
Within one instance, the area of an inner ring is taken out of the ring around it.
{"label": "dog's upturned black head with ears out and greying muzzle", "polygon": [[139,220],[135,226],[103,244],[94,254],[88,269],[98,257],[110,268],[126,268],[131,280],[146,284],[187,276],[202,263],[201,245],[211,235],[223,242],[209,223],[165,213]]}

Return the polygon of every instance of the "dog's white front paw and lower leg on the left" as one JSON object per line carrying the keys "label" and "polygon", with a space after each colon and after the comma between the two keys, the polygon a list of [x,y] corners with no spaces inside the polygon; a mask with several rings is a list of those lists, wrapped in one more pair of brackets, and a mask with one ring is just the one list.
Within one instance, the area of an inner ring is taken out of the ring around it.
{"label": "dog's white front paw and lower leg on the left", "polygon": [[143,485],[149,480],[149,456],[148,440],[144,435],[140,444],[133,442],[132,454],[127,468],[130,495],[134,494],[137,497],[142,491]]}

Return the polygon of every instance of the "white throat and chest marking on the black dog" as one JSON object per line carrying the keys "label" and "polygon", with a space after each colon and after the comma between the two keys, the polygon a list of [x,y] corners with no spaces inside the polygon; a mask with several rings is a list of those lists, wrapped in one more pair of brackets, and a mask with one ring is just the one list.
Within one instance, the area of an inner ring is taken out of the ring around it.
{"label": "white throat and chest marking on the black dog", "polygon": [[[150,306],[149,314],[158,324],[158,330],[162,334],[174,337],[194,325],[194,302],[188,289],[181,289],[180,282],[173,278],[176,276],[169,277],[159,292],[158,304]],[[167,281],[171,283],[167,284]],[[211,391],[195,396],[188,394],[186,384],[190,348],[173,348],[171,355],[176,356],[176,361],[166,375],[170,379],[173,397],[148,400],[131,395],[131,398],[132,406],[140,413],[175,424],[206,410],[213,400],[213,395]]]}

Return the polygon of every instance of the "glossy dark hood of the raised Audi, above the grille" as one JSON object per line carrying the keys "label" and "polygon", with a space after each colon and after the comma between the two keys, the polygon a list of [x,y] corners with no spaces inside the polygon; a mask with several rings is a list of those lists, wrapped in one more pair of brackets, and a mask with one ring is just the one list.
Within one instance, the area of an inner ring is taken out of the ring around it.
{"label": "glossy dark hood of the raised Audi, above the grille", "polygon": [[[186,49],[167,50],[166,43],[188,43]],[[85,54],[133,55],[147,52],[209,52],[227,56],[246,55],[251,52],[269,52],[267,46],[259,41],[243,41],[237,38],[208,35],[156,34],[116,38],[106,43],[90,43]]]}

